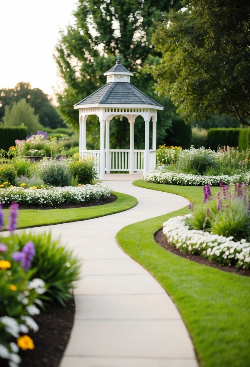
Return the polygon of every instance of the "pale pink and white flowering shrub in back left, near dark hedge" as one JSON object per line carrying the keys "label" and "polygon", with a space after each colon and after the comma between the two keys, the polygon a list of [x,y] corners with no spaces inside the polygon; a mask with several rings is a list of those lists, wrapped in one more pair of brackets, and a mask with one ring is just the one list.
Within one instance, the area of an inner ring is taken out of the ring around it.
{"label": "pale pink and white flowering shrub in back left, near dark hedge", "polygon": [[[40,134],[38,134],[38,132]],[[58,150],[56,138],[47,139],[47,135],[38,131],[36,135],[27,137],[26,140],[15,140],[16,153],[20,156],[50,156]]]}

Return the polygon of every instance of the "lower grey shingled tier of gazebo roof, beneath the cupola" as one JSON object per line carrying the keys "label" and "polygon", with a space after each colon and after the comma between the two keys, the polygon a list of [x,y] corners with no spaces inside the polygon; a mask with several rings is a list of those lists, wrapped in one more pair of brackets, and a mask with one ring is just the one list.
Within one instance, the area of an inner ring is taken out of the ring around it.
{"label": "lower grey shingled tier of gazebo roof, beneath the cupola", "polygon": [[88,97],[76,103],[75,106],[88,105],[92,103],[104,103],[107,105],[114,103],[133,105],[145,104],[162,107],[159,103],[155,102],[152,98],[148,97],[132,84],[116,81],[105,84],[103,87],[99,88]]}

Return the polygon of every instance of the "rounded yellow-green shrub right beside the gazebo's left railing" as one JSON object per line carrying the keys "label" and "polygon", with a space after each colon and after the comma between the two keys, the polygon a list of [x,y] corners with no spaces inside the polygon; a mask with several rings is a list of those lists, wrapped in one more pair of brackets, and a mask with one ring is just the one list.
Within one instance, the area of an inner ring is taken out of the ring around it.
{"label": "rounded yellow-green shrub right beside the gazebo's left railing", "polygon": [[78,176],[78,183],[91,183],[96,177],[96,162],[93,158],[69,159],[69,171],[73,177]]}

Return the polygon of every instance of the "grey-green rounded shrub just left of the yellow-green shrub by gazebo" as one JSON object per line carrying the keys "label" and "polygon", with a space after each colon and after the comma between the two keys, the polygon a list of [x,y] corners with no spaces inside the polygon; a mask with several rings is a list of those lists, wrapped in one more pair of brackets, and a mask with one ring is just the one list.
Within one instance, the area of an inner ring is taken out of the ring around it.
{"label": "grey-green rounded shrub just left of the yellow-green shrub by gazebo", "polygon": [[54,161],[43,158],[38,162],[36,170],[38,177],[51,186],[67,186],[71,179],[71,173],[65,160]]}

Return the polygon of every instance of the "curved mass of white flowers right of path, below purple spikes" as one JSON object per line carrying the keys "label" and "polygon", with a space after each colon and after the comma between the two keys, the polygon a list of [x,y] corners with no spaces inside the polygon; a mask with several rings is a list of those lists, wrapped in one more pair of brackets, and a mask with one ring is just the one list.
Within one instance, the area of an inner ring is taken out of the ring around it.
{"label": "curved mass of white flowers right of path, below purple spikes", "polygon": [[185,219],[191,214],[170,218],[163,223],[163,233],[169,242],[183,252],[199,254],[220,264],[250,268],[250,243],[245,239],[234,242],[233,236],[224,237],[210,232],[190,229]]}

